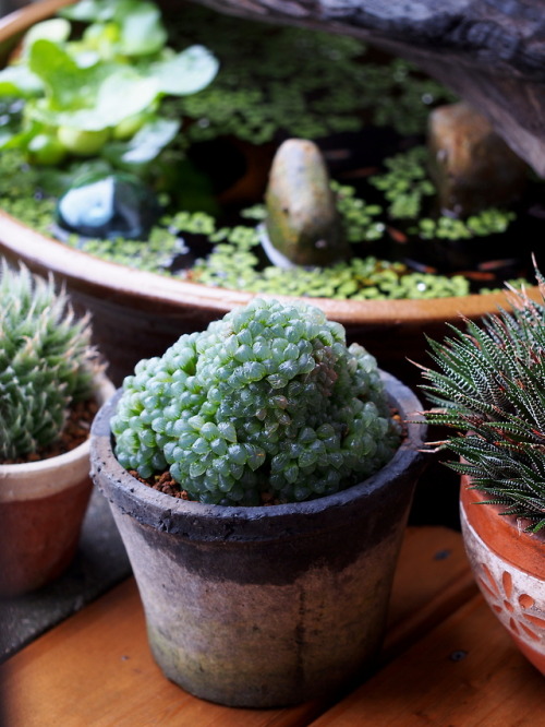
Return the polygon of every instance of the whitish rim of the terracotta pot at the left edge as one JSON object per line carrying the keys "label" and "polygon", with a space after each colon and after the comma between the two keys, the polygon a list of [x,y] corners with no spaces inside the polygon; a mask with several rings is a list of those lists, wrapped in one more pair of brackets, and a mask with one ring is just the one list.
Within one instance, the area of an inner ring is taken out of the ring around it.
{"label": "whitish rim of the terracotta pot at the left edge", "polygon": [[[114,392],[104,371],[94,376],[97,402],[102,405]],[[77,484],[88,476],[90,437],[69,452],[47,460],[0,464],[0,502],[34,500]]]}

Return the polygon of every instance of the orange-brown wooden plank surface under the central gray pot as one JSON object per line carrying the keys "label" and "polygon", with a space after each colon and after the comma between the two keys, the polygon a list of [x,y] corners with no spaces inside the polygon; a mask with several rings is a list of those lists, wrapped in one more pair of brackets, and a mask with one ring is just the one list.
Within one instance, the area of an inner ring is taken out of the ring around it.
{"label": "orange-brown wooden plank surface under the central gray pot", "polygon": [[384,658],[332,704],[233,710],[167,681],[147,647],[133,579],[8,660],[7,727],[536,725],[545,682],[512,645],[469,572],[460,535],[407,533]]}

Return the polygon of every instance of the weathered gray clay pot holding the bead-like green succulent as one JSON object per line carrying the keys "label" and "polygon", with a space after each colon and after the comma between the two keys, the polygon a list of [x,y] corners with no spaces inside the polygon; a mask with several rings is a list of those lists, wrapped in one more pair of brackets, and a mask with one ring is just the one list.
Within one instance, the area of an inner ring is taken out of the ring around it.
{"label": "weathered gray clay pot holding the bead-like green succulent", "polygon": [[[383,374],[403,419],[414,394]],[[425,427],[342,492],[272,506],[205,505],[128,474],[97,415],[93,476],[110,501],[138,584],[150,648],[189,692],[230,706],[295,704],[373,667],[399,547],[423,463]]]}

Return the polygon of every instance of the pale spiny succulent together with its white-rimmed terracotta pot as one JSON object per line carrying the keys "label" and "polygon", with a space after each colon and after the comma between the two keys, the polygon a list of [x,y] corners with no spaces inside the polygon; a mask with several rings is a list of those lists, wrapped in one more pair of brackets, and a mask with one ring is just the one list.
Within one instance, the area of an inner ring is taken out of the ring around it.
{"label": "pale spiny succulent together with its white-rimmed terracotta pot", "polygon": [[75,553],[92,491],[89,419],[113,386],[89,318],[76,319],[51,277],[5,262],[0,275],[0,596],[14,596]]}

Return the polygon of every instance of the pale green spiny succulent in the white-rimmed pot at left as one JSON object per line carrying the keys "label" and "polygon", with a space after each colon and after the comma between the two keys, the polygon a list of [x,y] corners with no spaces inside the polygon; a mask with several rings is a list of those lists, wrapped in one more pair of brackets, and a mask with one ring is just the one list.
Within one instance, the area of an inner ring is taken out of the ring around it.
{"label": "pale green spiny succulent in the white-rimmed pot at left", "polygon": [[0,269],[0,461],[40,452],[92,393],[90,327],[53,281]]}

